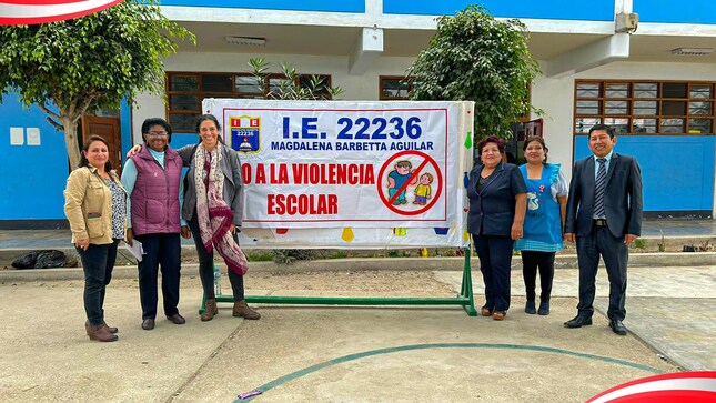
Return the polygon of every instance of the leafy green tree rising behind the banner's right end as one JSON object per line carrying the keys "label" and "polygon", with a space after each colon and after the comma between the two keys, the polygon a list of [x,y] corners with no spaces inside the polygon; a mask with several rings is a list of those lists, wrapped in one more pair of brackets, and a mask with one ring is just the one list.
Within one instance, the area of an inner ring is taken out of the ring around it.
{"label": "leafy green tree rising behind the banner's right end", "polygon": [[475,101],[475,139],[510,138],[510,123],[532,108],[528,85],[539,73],[527,40],[520,20],[495,20],[482,6],[440,17],[430,44],[407,69],[412,98]]}

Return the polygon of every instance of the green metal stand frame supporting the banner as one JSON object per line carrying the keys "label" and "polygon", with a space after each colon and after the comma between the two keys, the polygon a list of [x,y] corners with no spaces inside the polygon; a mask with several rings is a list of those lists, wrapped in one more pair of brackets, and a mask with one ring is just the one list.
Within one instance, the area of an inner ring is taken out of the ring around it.
{"label": "green metal stand frame supporting the banner", "polygon": [[[473,299],[473,282],[470,268],[470,248],[465,248],[465,264],[463,265],[463,283],[460,294],[453,298],[373,298],[373,296],[281,296],[281,295],[246,295],[246,302],[309,304],[309,305],[460,305],[467,315],[477,316]],[[233,302],[233,295],[219,294],[216,302]],[[201,301],[199,314],[204,312],[206,296]]]}

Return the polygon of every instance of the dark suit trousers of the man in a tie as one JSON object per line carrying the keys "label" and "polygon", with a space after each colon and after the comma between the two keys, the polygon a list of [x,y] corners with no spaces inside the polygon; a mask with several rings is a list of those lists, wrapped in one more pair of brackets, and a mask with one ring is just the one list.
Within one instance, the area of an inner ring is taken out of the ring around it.
{"label": "dark suit trousers of the man in a tie", "polygon": [[579,263],[579,303],[581,316],[594,314],[594,295],[596,292],[596,273],[599,256],[604,260],[609,279],[609,320],[624,320],[626,309],[626,265],[628,249],[624,236],[614,238],[607,226],[594,226],[589,235],[577,236],[577,260]]}

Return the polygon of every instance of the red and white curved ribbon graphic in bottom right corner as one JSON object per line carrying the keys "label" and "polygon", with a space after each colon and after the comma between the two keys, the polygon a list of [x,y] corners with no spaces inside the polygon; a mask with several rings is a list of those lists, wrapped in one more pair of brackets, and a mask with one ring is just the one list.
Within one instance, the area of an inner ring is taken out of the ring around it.
{"label": "red and white curved ribbon graphic in bottom right corner", "polygon": [[586,403],[714,403],[716,371],[647,376],[602,392]]}

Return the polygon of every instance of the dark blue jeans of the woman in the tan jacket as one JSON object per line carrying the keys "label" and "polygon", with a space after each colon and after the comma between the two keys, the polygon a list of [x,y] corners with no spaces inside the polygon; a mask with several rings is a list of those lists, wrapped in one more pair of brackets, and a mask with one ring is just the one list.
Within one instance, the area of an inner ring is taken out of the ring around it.
{"label": "dark blue jeans of the woman in the tan jacket", "polygon": [[84,271],[84,312],[91,325],[104,323],[104,294],[112,280],[120,240],[102,245],[90,243],[87,251],[75,248]]}

